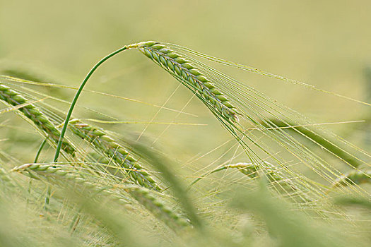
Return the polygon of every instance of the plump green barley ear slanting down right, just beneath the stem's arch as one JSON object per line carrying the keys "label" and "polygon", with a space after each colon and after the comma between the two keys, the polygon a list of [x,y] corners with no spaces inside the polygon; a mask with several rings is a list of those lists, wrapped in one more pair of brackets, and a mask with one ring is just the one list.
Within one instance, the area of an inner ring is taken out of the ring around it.
{"label": "plump green barley ear slanting down right, just beneath the stem's arch", "polygon": [[131,181],[140,186],[161,191],[150,174],[141,167],[139,160],[135,159],[126,148],[116,141],[102,128],[95,128],[78,119],[69,121],[69,128],[80,138],[88,141],[97,150],[100,150],[107,159],[112,160],[118,167],[124,167]]}

